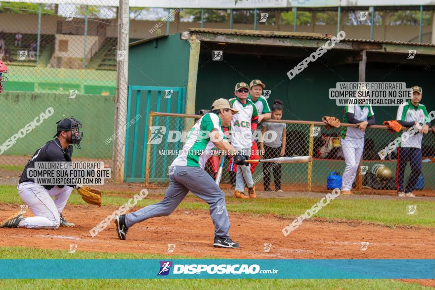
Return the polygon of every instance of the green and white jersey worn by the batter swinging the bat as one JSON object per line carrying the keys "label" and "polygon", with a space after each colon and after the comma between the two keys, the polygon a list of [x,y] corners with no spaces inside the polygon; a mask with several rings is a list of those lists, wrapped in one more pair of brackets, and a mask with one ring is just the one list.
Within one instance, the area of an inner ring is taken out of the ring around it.
{"label": "green and white jersey worn by the batter swinging the bat", "polygon": [[217,129],[222,139],[226,139],[221,125],[222,122],[215,113],[208,113],[202,116],[190,130],[183,149],[171,166],[204,168],[207,160],[212,155],[212,150],[215,148],[209,137],[210,132],[213,129]]}

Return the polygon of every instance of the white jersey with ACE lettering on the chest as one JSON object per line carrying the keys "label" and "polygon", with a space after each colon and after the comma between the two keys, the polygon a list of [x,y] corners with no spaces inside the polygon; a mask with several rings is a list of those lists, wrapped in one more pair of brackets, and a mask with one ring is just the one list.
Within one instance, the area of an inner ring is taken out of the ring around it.
{"label": "white jersey with ACE lettering on the chest", "polygon": [[251,148],[252,131],[257,129],[258,113],[256,106],[249,100],[243,104],[239,98],[229,99],[235,110],[239,110],[231,121],[231,145],[237,148]]}

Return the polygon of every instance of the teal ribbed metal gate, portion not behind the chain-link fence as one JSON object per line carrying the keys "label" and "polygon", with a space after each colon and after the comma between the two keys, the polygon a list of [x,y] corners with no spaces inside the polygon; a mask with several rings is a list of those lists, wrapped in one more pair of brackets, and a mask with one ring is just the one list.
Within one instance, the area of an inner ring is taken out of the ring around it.
{"label": "teal ribbed metal gate, portion not behind the chain-link fence", "polygon": [[129,85],[124,181],[145,181],[149,112],[184,113],[185,99],[185,87]]}

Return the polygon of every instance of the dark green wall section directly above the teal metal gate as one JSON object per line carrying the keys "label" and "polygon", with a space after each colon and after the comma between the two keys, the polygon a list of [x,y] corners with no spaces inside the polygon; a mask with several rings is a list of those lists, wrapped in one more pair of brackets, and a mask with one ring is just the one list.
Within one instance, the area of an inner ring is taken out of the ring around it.
{"label": "dark green wall section directly above the teal metal gate", "polygon": [[189,42],[179,34],[156,41],[130,47],[129,85],[186,86]]}

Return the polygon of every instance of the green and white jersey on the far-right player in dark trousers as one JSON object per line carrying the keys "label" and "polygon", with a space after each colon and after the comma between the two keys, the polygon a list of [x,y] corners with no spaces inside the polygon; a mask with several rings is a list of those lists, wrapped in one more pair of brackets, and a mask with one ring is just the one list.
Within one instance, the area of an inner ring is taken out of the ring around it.
{"label": "green and white jersey on the far-right player in dark trousers", "polygon": [[[397,109],[396,120],[405,122],[417,121],[422,125],[431,122],[431,120],[429,119],[428,111],[426,110],[426,106],[418,104],[418,106],[415,107],[412,104],[411,100],[408,100],[399,106],[399,108]],[[400,135],[401,133],[402,131],[400,132]],[[417,132],[413,136],[410,136],[408,139],[402,140],[400,142],[400,147],[412,147],[421,149],[422,139],[423,134]]]}

